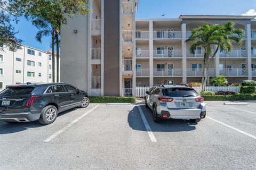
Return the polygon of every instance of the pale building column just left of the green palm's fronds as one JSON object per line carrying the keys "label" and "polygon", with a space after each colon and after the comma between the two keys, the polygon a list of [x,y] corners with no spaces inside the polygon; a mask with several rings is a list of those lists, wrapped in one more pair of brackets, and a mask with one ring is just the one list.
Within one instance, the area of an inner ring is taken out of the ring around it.
{"label": "pale building column just left of the green palm's fronds", "polygon": [[187,29],[186,23],[181,24],[181,31],[182,31],[182,82],[187,83]]}

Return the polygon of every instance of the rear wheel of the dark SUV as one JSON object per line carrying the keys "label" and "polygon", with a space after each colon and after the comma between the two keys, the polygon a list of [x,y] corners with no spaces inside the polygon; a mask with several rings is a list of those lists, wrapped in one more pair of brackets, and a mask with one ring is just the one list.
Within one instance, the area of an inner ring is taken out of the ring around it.
{"label": "rear wheel of the dark SUV", "polygon": [[51,124],[58,116],[58,109],[55,106],[49,105],[43,108],[41,116],[39,118],[39,123],[41,124]]}

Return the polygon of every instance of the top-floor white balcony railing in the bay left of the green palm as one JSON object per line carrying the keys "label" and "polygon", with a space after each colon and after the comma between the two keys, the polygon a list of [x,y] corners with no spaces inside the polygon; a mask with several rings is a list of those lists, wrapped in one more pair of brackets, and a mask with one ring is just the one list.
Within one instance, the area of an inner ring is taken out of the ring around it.
{"label": "top-floor white balcony railing in the bay left of the green palm", "polygon": [[181,31],[154,31],[153,38],[155,38],[155,39],[174,39],[174,38],[181,39],[182,32]]}

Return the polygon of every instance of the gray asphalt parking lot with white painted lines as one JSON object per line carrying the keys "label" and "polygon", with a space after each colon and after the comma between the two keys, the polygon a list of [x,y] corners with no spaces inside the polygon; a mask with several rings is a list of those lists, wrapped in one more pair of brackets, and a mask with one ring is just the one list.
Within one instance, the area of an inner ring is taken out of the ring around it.
{"label": "gray asphalt parking lot with white painted lines", "polygon": [[0,122],[0,169],[256,169],[256,103],[206,103],[198,123],[105,104],[47,126]]}

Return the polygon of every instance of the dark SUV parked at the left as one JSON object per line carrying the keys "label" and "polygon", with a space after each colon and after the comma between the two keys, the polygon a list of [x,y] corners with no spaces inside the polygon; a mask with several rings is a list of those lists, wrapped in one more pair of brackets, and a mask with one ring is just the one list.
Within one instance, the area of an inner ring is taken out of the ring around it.
{"label": "dark SUV parked at the left", "polygon": [[27,83],[0,92],[0,121],[42,124],[54,122],[58,113],[90,103],[85,91],[67,83]]}

